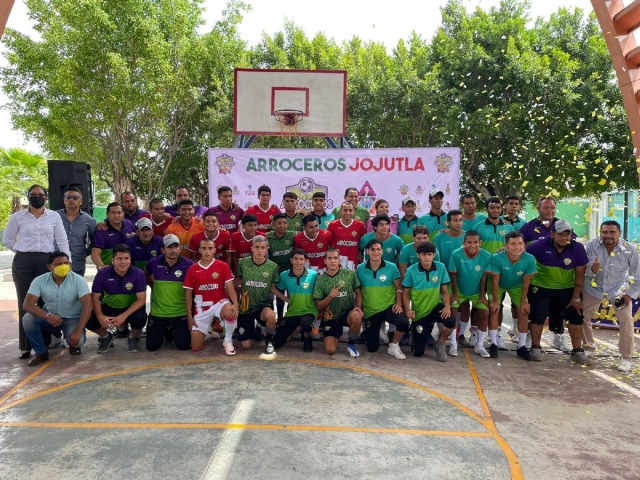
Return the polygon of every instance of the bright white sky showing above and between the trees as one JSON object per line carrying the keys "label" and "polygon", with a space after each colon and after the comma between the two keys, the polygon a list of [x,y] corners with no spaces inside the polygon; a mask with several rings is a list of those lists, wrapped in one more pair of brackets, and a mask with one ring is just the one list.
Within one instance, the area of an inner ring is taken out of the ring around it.
{"label": "bright white sky showing above and between the trees", "polygon": [[[394,0],[387,4],[371,0],[323,0],[317,7],[310,8],[310,2],[295,0],[244,0],[252,5],[252,10],[244,15],[240,35],[249,46],[260,42],[263,33],[272,35],[282,30],[285,20],[293,21],[308,37],[323,32],[338,43],[354,35],[362,40],[383,43],[388,50],[397,45],[398,40],[408,39],[412,31],[429,40],[440,25],[440,8],[446,0]],[[499,0],[463,0],[467,10],[480,7],[488,10],[499,5]],[[625,0],[624,3],[628,3]],[[532,0],[531,16],[545,17],[560,7],[578,7],[590,11],[590,0]],[[225,8],[226,0],[205,0],[204,18],[206,27],[213,25]],[[376,8],[376,5],[380,7]],[[15,0],[9,16],[7,28],[32,34],[32,23],[23,0]],[[0,40],[0,65],[6,65],[4,45]],[[25,139],[21,132],[11,125],[9,112],[2,108],[7,97],[0,92],[0,146],[20,147],[32,152],[41,149],[35,142]]]}

